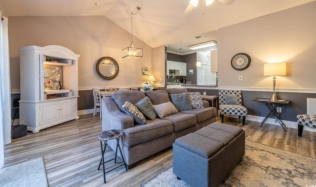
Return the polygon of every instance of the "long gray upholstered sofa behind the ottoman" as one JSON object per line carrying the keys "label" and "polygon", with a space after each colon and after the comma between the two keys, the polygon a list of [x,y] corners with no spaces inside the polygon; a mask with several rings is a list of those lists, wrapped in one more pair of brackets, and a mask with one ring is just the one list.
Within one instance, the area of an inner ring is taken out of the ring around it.
{"label": "long gray upholstered sofa behind the ottoman", "polygon": [[[136,123],[134,118],[127,115],[122,108],[126,101],[137,104],[147,96],[156,109],[156,106],[174,101],[174,98],[183,95],[182,93],[187,93],[187,90],[118,92],[102,99],[102,131],[123,130],[122,141],[119,143],[129,168],[134,167],[138,161],[171,147],[175,139],[216,121],[216,109],[209,107],[208,101],[204,100],[202,100],[204,108],[177,110],[171,115],[168,107],[160,107],[159,110],[165,111],[158,111],[158,113],[166,112],[164,114],[166,116],[159,114],[161,119],[159,116],[153,120],[146,119],[145,125]],[[116,141],[109,141],[108,144],[115,150]]]}

